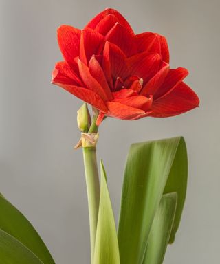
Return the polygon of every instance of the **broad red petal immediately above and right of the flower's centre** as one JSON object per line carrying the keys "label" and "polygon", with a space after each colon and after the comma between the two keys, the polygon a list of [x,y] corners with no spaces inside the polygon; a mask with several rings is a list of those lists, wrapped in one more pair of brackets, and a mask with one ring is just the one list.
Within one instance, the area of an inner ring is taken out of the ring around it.
{"label": "broad red petal immediately above and right of the flower's centre", "polygon": [[145,85],[158,72],[161,58],[159,54],[143,52],[130,57],[128,63],[131,68],[131,75],[142,78]]}

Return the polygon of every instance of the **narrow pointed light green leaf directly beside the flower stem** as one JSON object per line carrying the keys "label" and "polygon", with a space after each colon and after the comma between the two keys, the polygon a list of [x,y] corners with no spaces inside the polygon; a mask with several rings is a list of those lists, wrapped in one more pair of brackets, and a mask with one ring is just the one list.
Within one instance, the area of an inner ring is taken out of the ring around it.
{"label": "narrow pointed light green leaf directly beside the flower stem", "polygon": [[120,264],[115,220],[102,162],[94,264]]}

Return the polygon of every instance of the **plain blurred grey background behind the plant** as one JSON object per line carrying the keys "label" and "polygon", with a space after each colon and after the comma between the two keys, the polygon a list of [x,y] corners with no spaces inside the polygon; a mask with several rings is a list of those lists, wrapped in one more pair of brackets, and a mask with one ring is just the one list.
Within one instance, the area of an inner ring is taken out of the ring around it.
{"label": "plain blurred grey background behind the plant", "polygon": [[50,85],[50,76],[61,60],[58,25],[83,28],[107,6],[135,32],[164,34],[171,66],[189,69],[186,82],[201,100],[199,109],[175,118],[104,121],[98,156],[115,217],[129,145],[184,135],[188,195],[164,263],[219,263],[219,1],[0,0],[0,191],[34,224],[57,263],[89,263],[83,159],[73,149],[81,102]]}

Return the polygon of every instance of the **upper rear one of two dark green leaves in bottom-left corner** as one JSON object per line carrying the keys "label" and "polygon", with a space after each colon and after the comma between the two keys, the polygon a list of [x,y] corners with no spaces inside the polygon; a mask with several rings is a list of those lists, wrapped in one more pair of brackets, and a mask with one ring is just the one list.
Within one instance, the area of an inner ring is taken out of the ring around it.
{"label": "upper rear one of two dark green leaves in bottom-left corner", "polygon": [[[0,195],[0,229],[14,236],[15,239],[41,259],[43,263],[54,264],[50,252],[39,234],[34,230],[32,224],[2,195]],[[1,236],[1,239],[3,238],[4,236]],[[4,243],[4,241],[0,242]]]}

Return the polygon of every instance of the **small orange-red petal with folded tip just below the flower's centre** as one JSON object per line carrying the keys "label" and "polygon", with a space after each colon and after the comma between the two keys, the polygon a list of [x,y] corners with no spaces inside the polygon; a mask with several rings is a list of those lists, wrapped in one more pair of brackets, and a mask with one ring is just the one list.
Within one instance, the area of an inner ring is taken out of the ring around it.
{"label": "small orange-red petal with folded tip just below the flower's centre", "polygon": [[122,99],[117,98],[114,99],[113,102],[120,102],[121,104],[126,104],[129,107],[148,111],[149,109],[151,109],[152,98],[147,98],[146,96],[131,96]]}

